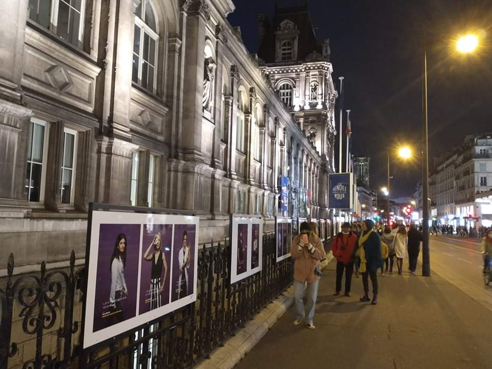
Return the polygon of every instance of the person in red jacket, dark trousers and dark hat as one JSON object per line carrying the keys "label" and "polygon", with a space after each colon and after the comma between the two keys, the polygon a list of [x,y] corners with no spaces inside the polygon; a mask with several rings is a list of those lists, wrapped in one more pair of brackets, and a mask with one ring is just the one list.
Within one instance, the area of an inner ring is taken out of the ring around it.
{"label": "person in red jacket, dark trousers and dark hat", "polygon": [[342,232],[338,233],[332,244],[333,255],[337,259],[337,279],[334,296],[339,296],[342,290],[342,277],[345,271],[345,296],[350,297],[352,273],[354,273],[354,254],[357,236],[351,231],[350,223],[342,224]]}

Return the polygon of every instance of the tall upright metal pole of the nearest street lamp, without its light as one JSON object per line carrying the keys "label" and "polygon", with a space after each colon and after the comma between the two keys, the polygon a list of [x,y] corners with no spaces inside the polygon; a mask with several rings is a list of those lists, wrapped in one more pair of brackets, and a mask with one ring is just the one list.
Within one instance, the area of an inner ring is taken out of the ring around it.
{"label": "tall upright metal pole of the nearest street lamp, without its light", "polygon": [[430,277],[430,255],[429,255],[429,178],[428,178],[428,117],[427,117],[427,52],[423,53],[423,75],[422,75],[422,275]]}

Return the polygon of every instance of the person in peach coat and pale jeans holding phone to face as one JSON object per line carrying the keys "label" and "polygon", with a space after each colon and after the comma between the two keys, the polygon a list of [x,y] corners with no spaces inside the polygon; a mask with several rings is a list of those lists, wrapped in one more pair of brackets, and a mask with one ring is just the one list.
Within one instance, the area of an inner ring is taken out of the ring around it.
{"label": "person in peach coat and pale jeans holding phone to face", "polygon": [[[318,283],[321,276],[319,270],[320,260],[326,257],[326,253],[319,237],[311,233],[311,227],[308,222],[301,223],[300,233],[292,240],[291,256],[295,260],[294,297],[296,320],[294,320],[294,325],[299,325],[305,319],[308,322],[308,328],[315,329],[313,319],[318,296]],[[305,283],[307,283],[307,286],[304,292]],[[304,298],[306,301],[305,309]]]}

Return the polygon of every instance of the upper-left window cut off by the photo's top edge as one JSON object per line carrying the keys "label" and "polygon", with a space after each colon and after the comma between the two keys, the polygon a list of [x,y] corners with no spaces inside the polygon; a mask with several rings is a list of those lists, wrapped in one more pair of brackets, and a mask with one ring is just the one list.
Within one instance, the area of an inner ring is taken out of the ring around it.
{"label": "upper-left window cut off by the photo's top edge", "polygon": [[84,8],[85,0],[29,0],[29,18],[80,48]]}

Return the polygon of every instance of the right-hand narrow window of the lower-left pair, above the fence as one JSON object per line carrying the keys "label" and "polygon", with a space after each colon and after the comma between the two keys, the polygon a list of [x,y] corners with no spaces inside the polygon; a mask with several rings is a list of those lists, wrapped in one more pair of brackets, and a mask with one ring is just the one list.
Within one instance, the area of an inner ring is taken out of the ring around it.
{"label": "right-hand narrow window of the lower-left pair, above the fence", "polygon": [[64,129],[63,161],[61,162],[61,202],[73,202],[73,181],[75,170],[75,153],[77,152],[77,132],[68,128]]}

